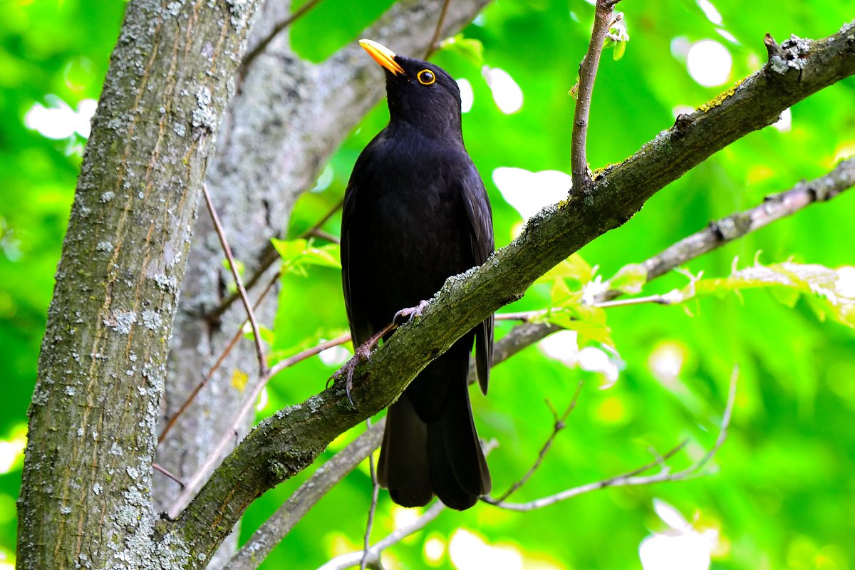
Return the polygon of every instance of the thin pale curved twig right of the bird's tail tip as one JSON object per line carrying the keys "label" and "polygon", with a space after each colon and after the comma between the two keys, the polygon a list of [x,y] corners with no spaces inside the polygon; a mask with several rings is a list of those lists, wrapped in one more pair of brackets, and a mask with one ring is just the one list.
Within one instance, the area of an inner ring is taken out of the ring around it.
{"label": "thin pale curved twig right of the bird's tail tip", "polygon": [[[730,426],[730,419],[733,415],[734,402],[736,400],[736,384],[738,375],[738,368],[734,367],[734,373],[730,377],[728,403],[724,408],[724,413],[722,414],[722,422],[719,427],[716,443],[713,444],[710,450],[708,450],[703,457],[701,457],[698,461],[695,461],[692,465],[686,467],[685,469],[681,469],[680,471],[672,473],[669,465],[665,463],[665,461],[667,461],[671,455],[674,455],[677,450],[681,450],[683,446],[685,446],[686,442],[683,442],[682,444],[675,447],[674,450],[671,450],[669,453],[666,453],[661,457],[657,457],[655,461],[652,461],[651,463],[648,463],[645,466],[638,467],[632,471],[629,471],[628,473],[622,473],[609,479],[603,479],[594,483],[588,483],[587,485],[581,485],[579,487],[573,487],[572,489],[566,489],[548,497],[541,497],[539,499],[535,499],[534,501],[529,502],[499,502],[494,501],[489,497],[482,497],[482,500],[499,508],[524,512],[532,511],[538,508],[544,508],[549,505],[553,505],[556,502],[565,501],[571,497],[577,497],[579,495],[583,495],[591,491],[598,491],[599,489],[604,489],[606,487],[652,485],[654,483],[662,483],[664,481],[680,481],[694,477],[698,475],[701,470],[704,469],[704,467],[706,467],[706,465],[712,460],[718,450],[721,449],[722,444],[724,444],[724,441],[727,438],[728,427]],[[640,474],[645,473],[653,467],[660,467],[659,473],[653,475]]]}

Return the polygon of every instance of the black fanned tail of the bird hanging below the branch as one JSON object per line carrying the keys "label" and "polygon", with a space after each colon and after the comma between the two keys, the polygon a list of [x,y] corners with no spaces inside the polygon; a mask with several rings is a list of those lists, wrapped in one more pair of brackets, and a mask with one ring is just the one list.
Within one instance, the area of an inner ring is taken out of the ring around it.
{"label": "black fanned tail of the bird hanging below the branch", "polygon": [[463,510],[491,489],[465,380],[448,391],[433,421],[419,417],[409,390],[389,408],[378,478],[399,505],[422,507],[435,494],[445,506]]}

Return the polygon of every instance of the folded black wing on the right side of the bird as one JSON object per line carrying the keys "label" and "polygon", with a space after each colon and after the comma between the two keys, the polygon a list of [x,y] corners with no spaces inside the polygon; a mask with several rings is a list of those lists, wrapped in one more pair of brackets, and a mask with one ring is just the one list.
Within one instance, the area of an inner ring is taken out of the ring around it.
{"label": "folded black wing on the right side of the bird", "polygon": [[[492,235],[492,211],[486,196],[484,182],[472,162],[469,162],[461,183],[463,205],[469,220],[469,239],[475,263],[482,265],[495,247]],[[475,368],[478,384],[486,394],[492,363],[492,314],[475,331]]]}

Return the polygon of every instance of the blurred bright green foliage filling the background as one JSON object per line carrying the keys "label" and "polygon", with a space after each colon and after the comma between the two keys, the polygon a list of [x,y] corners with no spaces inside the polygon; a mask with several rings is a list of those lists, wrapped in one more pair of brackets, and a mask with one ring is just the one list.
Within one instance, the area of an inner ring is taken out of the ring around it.
{"label": "blurred bright green foliage filling the background", "polygon": [[[709,4],[703,0],[619,6],[631,40],[620,61],[604,56],[601,64],[588,139],[592,167],[621,161],[670,126],[675,109],[705,103],[755,71],[764,62],[765,32],[779,42],[791,33],[823,37],[855,16],[851,4],[819,0],[791,3],[786,9],[769,0],[713,3],[719,25],[714,14],[701,9]],[[321,61],[360,37],[363,27],[389,5],[389,0],[321,0],[292,25],[292,44],[301,56]],[[25,116],[34,104],[50,106],[51,94],[72,109],[86,98],[97,98],[123,8],[119,0],[13,0],[5,4],[0,21],[0,351],[8,378],[0,404],[4,440],[20,438],[26,422],[80,162],[74,148],[82,141],[79,134],[44,138],[25,126]],[[466,42],[451,44],[433,57],[472,86],[474,103],[463,118],[464,136],[492,198],[498,246],[510,241],[522,218],[493,184],[493,170],[569,172],[569,91],[592,14],[583,0],[501,0],[463,32]],[[682,46],[705,38],[715,39],[733,57],[723,85],[705,87],[687,73]],[[475,41],[482,50],[473,49]],[[395,49],[393,42],[390,47]],[[473,56],[477,51],[483,62]],[[482,65],[504,69],[520,86],[524,102],[516,113],[504,115],[493,102]],[[608,278],[709,220],[828,172],[840,158],[855,153],[853,100],[855,81],[850,78],[799,103],[792,109],[791,128],[766,128],[717,153],[653,197],[633,220],[588,244],[581,259]],[[289,238],[339,202],[359,151],[387,118],[385,103],[380,104],[333,156],[324,184],[298,203]],[[788,260],[831,268],[852,265],[853,213],[855,192],[847,192],[693,261],[687,269],[703,271],[707,278],[727,278],[734,257],[746,267],[758,250],[759,260],[769,266]],[[337,234],[339,221],[333,216],[322,229]],[[263,323],[277,356],[347,328],[339,269],[327,259],[331,250],[323,240],[298,245],[280,244],[286,255],[290,251],[303,257],[296,261],[299,270],[282,278],[276,322]],[[646,285],[643,294],[685,285],[684,275],[671,273]],[[555,294],[547,279],[506,310],[544,309]],[[679,306],[606,309],[608,338],[621,368],[608,389],[600,389],[600,374],[548,357],[538,347],[498,365],[489,397],[473,396],[481,437],[500,444],[489,457],[498,492],[528,469],[551,432],[545,400],[561,410],[580,380],[585,381],[566,430],[513,497],[521,501],[628,471],[651,461],[651,449],[663,453],[684,438],[690,443],[675,456],[674,465],[686,467],[716,439],[736,364],[740,384],[728,440],[708,476],[598,491],[528,514],[486,505],[464,514],[446,512],[426,532],[389,550],[389,567],[398,567],[395,561],[400,567],[451,567],[447,549],[428,561],[425,544],[448,544],[457,529],[522,553],[530,567],[640,567],[641,541],[666,528],[654,511],[655,498],[673,505],[700,532],[717,533],[714,568],[855,567],[855,334],[834,320],[817,319],[816,303],[808,297],[787,296],[788,303],[781,303],[780,295],[758,288],[740,296],[703,295]],[[510,326],[500,323],[498,334]],[[571,348],[568,344],[568,353]],[[260,417],[321,390],[336,367],[331,360],[313,358],[280,373],[268,385],[268,405]],[[339,438],[321,460],[359,430],[354,432]],[[3,551],[14,551],[11,501],[20,476],[20,461],[0,474],[0,565]],[[305,477],[301,474],[255,502],[242,536],[248,537]],[[363,465],[300,522],[262,568],[316,567],[358,548],[369,495]],[[385,536],[402,516],[381,492],[374,538]]]}

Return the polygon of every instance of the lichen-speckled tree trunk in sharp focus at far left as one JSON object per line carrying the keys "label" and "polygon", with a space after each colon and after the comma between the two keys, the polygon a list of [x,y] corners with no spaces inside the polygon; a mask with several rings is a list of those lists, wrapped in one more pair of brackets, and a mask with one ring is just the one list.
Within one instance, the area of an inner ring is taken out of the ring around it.
{"label": "lichen-speckled tree trunk in sharp focus at far left", "polygon": [[257,2],[133,0],[74,198],[38,362],[19,568],[151,568],[169,338],[227,83]]}

